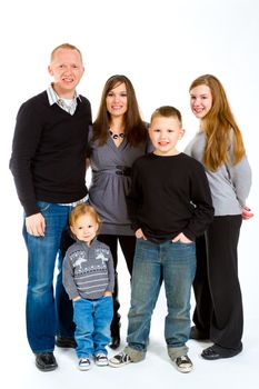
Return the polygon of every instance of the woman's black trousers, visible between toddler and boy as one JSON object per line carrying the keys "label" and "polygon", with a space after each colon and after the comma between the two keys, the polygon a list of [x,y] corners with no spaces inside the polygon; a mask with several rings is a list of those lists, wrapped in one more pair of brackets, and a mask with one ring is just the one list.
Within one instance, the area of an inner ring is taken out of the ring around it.
{"label": "woman's black trousers, visible between toddler and boy", "polygon": [[130,276],[132,275],[136,237],[135,236],[116,236],[116,235],[99,235],[98,240],[109,246],[114,263],[114,292],[113,292],[113,319],[111,322],[111,337],[120,333],[120,315],[119,315],[119,285],[118,285],[118,242],[120,243],[122,253],[126,259],[127,268]]}

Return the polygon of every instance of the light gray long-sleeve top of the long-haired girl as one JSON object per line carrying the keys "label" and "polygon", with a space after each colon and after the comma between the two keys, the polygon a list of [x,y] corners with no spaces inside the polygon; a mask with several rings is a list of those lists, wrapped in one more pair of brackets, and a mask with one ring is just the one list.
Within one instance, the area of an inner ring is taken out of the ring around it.
{"label": "light gray long-sleeve top of the long-haired girl", "polygon": [[[203,163],[205,146],[205,132],[199,131],[187,146],[185,152]],[[247,157],[243,157],[237,164],[231,163],[231,161],[232,148],[230,147],[228,163],[220,166],[215,172],[206,169],[215,216],[240,215],[250,191],[251,169]]]}

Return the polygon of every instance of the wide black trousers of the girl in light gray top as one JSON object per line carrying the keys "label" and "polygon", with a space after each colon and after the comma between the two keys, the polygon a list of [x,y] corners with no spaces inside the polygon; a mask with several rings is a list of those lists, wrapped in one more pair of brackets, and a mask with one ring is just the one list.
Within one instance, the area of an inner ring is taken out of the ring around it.
{"label": "wide black trousers of the girl in light gray top", "polygon": [[238,240],[241,216],[215,217],[206,236],[197,239],[193,281],[193,322],[217,345],[238,349],[243,330],[238,279]]}

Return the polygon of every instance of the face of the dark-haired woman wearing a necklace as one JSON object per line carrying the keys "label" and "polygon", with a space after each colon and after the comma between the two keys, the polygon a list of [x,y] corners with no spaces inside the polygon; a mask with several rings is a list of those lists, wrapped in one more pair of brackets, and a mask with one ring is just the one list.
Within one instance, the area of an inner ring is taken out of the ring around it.
{"label": "face of the dark-haired woman wearing a necklace", "polygon": [[111,117],[123,116],[128,110],[128,97],[124,82],[114,86],[106,98],[107,110]]}

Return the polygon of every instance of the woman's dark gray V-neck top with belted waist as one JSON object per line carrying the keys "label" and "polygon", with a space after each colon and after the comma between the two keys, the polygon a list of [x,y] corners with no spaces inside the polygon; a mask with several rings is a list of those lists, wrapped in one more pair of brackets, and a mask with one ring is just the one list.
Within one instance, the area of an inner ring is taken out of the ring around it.
{"label": "woman's dark gray V-neck top with belted waist", "polygon": [[98,141],[90,142],[88,158],[92,180],[89,200],[102,220],[100,233],[135,235],[126,201],[131,184],[131,167],[139,157],[152,149],[148,134],[147,141],[137,147],[130,146],[127,139],[117,147],[110,137],[101,147]]}

